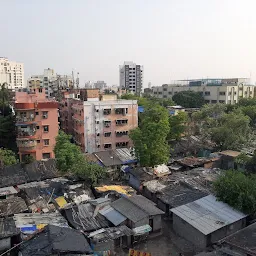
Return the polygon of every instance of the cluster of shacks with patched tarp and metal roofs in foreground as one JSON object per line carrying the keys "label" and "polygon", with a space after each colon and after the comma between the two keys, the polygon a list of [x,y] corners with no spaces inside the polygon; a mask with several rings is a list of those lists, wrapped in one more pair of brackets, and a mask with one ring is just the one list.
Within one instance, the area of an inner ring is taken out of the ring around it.
{"label": "cluster of shacks with patched tarp and metal roofs in foreground", "polygon": [[[175,253],[184,255],[256,255],[255,224],[248,225],[247,215],[217,201],[213,192],[213,181],[238,155],[176,157],[168,165],[145,168],[128,158],[109,161],[98,154],[95,161],[112,179],[97,186],[61,176],[54,159],[2,168],[0,251],[20,256],[168,255],[158,247],[165,238],[178,248]],[[193,250],[185,250],[178,239]]]}

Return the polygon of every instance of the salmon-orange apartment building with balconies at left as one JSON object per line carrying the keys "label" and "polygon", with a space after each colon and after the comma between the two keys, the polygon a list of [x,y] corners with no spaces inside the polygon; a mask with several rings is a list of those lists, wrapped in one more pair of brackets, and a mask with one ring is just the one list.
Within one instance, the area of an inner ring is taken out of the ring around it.
{"label": "salmon-orange apartment building with balconies at left", "polygon": [[32,156],[36,160],[53,158],[58,135],[58,103],[46,98],[45,90],[16,92],[17,146],[20,160]]}

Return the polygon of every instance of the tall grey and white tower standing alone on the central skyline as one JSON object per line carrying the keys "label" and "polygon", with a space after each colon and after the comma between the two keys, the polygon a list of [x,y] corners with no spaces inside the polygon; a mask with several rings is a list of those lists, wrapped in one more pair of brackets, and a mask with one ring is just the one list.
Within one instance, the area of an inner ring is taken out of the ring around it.
{"label": "tall grey and white tower standing alone on the central skyline", "polygon": [[143,86],[143,66],[124,62],[119,68],[120,89],[140,95]]}

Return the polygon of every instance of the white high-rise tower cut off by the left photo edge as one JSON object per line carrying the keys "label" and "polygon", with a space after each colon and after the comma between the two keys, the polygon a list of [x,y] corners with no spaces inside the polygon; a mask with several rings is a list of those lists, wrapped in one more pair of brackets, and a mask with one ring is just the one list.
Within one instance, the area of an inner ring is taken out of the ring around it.
{"label": "white high-rise tower cut off by the left photo edge", "polygon": [[24,64],[0,57],[0,84],[6,83],[10,90],[25,88]]}

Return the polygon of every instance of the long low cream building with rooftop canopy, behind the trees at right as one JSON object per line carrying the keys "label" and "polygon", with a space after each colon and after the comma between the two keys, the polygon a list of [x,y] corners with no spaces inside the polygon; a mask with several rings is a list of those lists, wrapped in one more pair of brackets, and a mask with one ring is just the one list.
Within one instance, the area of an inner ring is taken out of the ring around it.
{"label": "long low cream building with rooftop canopy, behind the trees at right", "polygon": [[253,98],[254,90],[248,78],[198,79],[152,87],[151,94],[157,98],[172,98],[178,92],[195,91],[202,94],[205,103],[235,104],[240,98]]}

